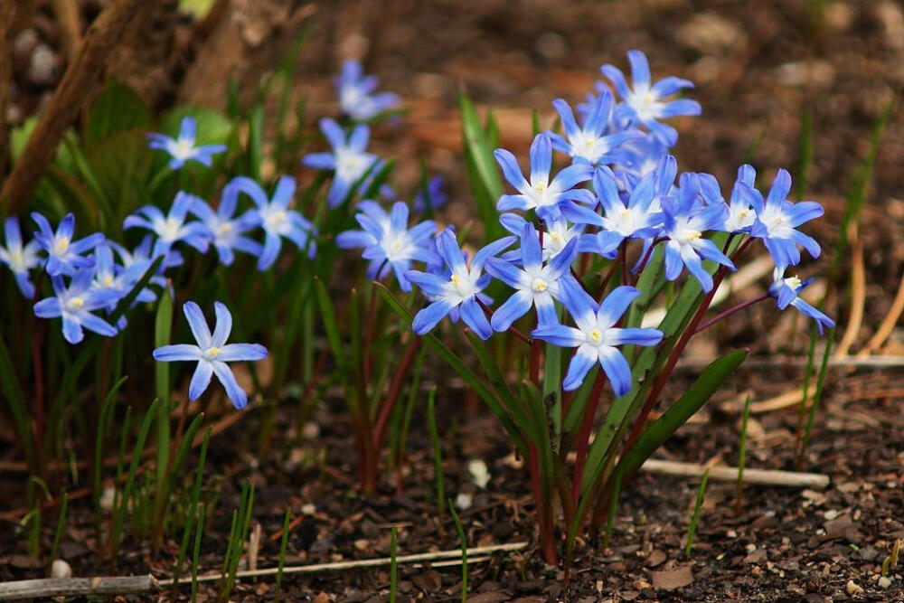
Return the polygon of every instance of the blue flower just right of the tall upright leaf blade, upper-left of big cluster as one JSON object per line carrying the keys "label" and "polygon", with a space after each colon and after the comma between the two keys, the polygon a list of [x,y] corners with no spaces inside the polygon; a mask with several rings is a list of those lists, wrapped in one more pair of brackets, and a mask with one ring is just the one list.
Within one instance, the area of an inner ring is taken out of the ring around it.
{"label": "blue flower just right of the tall upright leaf blade, upper-left of big cluster", "polygon": [[570,221],[582,224],[600,224],[599,214],[575,202],[594,205],[593,193],[587,189],[574,188],[586,182],[593,175],[593,167],[587,164],[569,165],[550,182],[552,167],[552,141],[547,134],[538,134],[531,145],[531,182],[528,183],[511,152],[497,148],[496,161],[503,169],[505,179],[512,184],[518,194],[504,194],[499,197],[496,209],[500,212],[511,210],[536,210],[544,221],[559,220],[565,216]]}

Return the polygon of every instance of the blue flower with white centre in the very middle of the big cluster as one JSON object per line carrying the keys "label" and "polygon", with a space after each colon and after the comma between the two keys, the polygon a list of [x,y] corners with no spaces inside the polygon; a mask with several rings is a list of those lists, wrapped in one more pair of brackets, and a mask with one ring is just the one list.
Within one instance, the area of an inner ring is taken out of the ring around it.
{"label": "blue flower with white centre in the very middle of the big cluster", "polygon": [[656,173],[646,174],[628,197],[627,203],[618,195],[616,182],[607,170],[593,174],[593,188],[603,205],[603,228],[596,234],[584,235],[585,248],[612,259],[618,246],[626,239],[651,239],[663,224],[658,201]]}

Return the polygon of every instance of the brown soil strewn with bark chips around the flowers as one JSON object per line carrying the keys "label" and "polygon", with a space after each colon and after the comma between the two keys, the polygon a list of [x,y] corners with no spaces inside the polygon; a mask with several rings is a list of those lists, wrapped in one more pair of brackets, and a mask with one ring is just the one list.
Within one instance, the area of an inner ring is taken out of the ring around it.
{"label": "brown soil strewn with bark chips around the flowers", "polygon": [[[360,12],[353,8],[348,2],[321,6],[324,29],[333,34],[315,33],[303,54],[299,94],[311,99],[314,115],[333,112],[328,73],[334,57],[362,45],[353,35],[362,28],[356,21]],[[723,184],[748,157],[766,174],[778,166],[794,168],[801,116],[812,111],[815,160],[806,196],[827,207],[811,233],[831,256],[843,197],[871,124],[904,90],[904,16],[893,2],[397,2],[383,16],[380,30],[372,68],[379,71],[382,87],[406,99],[410,112],[400,125],[374,134],[375,148],[399,157],[394,184],[400,191],[418,181],[418,157],[426,155],[429,167],[447,176],[452,202],[444,219],[457,223],[473,215],[455,113],[459,82],[482,108],[495,108],[503,146],[523,154],[532,108],[540,108],[541,121],[551,123],[551,99],[580,99],[598,79],[601,63],[624,67],[624,52],[639,48],[648,54],[654,74],[697,83],[692,96],[702,102],[704,114],[678,122],[676,155],[683,169],[711,172]],[[900,278],[900,115],[898,110],[883,137],[863,214],[868,304],[854,351],[885,316]],[[808,269],[825,269],[827,263]],[[830,308],[842,326],[850,311],[843,295],[846,276],[842,269],[835,282],[824,283],[842,292]],[[739,292],[739,299],[747,297]],[[902,341],[898,330],[880,353],[901,355]],[[752,347],[749,363],[657,457],[735,465],[744,395],[767,400],[801,382],[804,325],[761,305],[695,342],[665,399],[673,399],[699,371],[699,363],[691,361],[740,346]],[[448,382],[443,373],[435,377],[441,385]],[[567,588],[561,568],[544,565],[536,551],[526,472],[501,429],[484,409],[462,403],[469,400],[467,392],[442,391],[438,410],[446,428],[446,493],[471,498],[470,506],[460,510],[468,544],[528,542],[521,551],[471,565],[468,600],[904,601],[902,564],[889,570],[890,583],[880,579],[893,543],[904,539],[902,378],[901,367],[834,369],[804,464],[805,470],[828,475],[831,484],[824,490],[748,485],[737,513],[735,485],[711,481],[690,558],[683,554],[683,539],[699,482],[640,474],[623,491],[607,548],[594,534],[579,541]],[[293,427],[291,402],[281,412],[275,433],[285,438],[274,442],[267,457],[250,452],[257,449],[259,410],[250,410],[212,440],[209,471],[226,477],[218,486],[219,513],[204,534],[202,573],[221,568],[229,510],[238,504],[246,479],[258,488],[259,567],[277,564],[279,540],[273,536],[287,505],[293,517],[301,518],[290,532],[287,565],[386,557],[391,525],[398,527],[400,555],[457,549],[448,517],[445,534],[438,531],[422,409],[412,421],[401,493],[396,476],[386,472],[378,494],[366,498],[355,494],[353,439],[342,400],[324,400],[300,432]],[[748,466],[794,469],[798,426],[795,406],[754,415]],[[467,469],[478,458],[490,475],[483,488]],[[0,479],[10,484],[19,477],[7,473]],[[11,507],[20,504],[10,502]],[[15,537],[0,542],[0,579],[43,576],[42,562],[24,555],[24,534],[14,519],[3,523]],[[52,539],[52,528],[45,538]],[[107,571],[93,552],[94,538],[89,504],[73,502],[61,557],[77,576]],[[152,554],[129,539],[118,572],[170,576],[177,550],[178,542],[166,542],[164,551]],[[214,598],[215,584],[202,587],[202,594]],[[388,598],[389,584],[388,567],[286,576],[283,597],[381,601]],[[458,566],[399,567],[400,600],[458,600],[460,589]],[[248,580],[237,584],[232,598],[273,594],[272,579]]]}

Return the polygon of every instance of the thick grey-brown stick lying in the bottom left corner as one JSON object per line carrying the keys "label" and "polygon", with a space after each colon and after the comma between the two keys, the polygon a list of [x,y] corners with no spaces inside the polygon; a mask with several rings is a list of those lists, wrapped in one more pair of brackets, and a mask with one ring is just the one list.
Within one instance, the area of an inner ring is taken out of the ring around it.
{"label": "thick grey-brown stick lying in the bottom left corner", "polygon": [[0,582],[0,601],[23,598],[146,595],[158,589],[154,576],[45,578]]}

